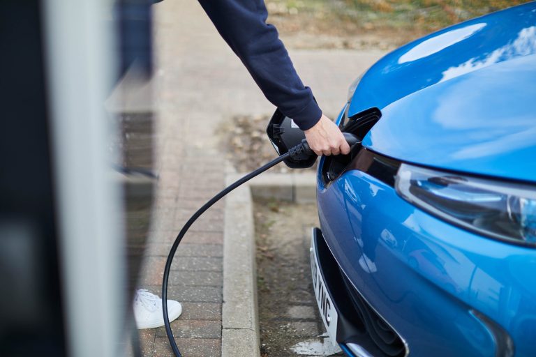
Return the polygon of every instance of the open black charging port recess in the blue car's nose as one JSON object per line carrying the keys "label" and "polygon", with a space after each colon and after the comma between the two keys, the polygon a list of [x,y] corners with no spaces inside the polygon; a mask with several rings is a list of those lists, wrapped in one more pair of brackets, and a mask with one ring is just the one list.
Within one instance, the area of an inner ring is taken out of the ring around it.
{"label": "open black charging port recess in the blue car's nose", "polygon": [[[359,138],[359,141],[361,141],[374,124],[380,120],[380,116],[381,112],[376,108],[360,112],[359,114],[352,116],[348,120],[348,123],[345,123],[343,128],[341,128],[341,131],[350,132],[351,134],[356,135]],[[330,182],[334,181],[338,176],[341,176],[348,165],[350,165],[350,162],[352,162],[361,150],[361,144],[356,144],[352,146],[352,150],[348,155],[326,156],[324,165],[322,165],[321,169],[323,183],[329,185]]]}

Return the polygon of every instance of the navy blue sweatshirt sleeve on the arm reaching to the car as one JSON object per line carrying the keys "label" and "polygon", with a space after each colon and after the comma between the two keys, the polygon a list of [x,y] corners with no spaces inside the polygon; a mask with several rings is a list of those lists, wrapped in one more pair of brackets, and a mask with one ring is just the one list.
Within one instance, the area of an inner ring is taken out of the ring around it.
{"label": "navy blue sweatshirt sleeve on the arm reaching to the car", "polygon": [[301,130],[322,111],[299,79],[276,28],[266,23],[264,0],[199,0],[225,42],[239,56],[266,98]]}

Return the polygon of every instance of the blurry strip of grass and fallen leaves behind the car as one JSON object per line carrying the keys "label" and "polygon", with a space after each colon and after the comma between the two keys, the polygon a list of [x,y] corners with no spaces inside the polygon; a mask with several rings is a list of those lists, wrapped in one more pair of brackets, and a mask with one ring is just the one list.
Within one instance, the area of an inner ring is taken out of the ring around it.
{"label": "blurry strip of grass and fallen leaves behind the car", "polygon": [[528,0],[267,0],[283,33],[390,38],[395,45]]}

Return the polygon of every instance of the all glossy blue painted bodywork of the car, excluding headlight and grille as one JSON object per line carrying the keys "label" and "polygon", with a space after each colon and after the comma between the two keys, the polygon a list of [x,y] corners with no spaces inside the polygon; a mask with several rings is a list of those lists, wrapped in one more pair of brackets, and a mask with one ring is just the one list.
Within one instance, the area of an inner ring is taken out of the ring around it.
{"label": "all glossy blue painted bodywork of the car, excluding headlight and grille", "polygon": [[[500,140],[536,127],[535,81],[530,73],[536,46],[528,41],[525,50],[513,49],[520,34],[534,37],[535,24],[536,4],[529,3],[439,31],[378,61],[363,76],[348,110],[349,116],[371,107],[382,110],[365,146],[422,165],[535,181],[536,135],[533,143],[520,140],[523,145],[513,149],[498,142],[500,150],[482,151],[479,157],[452,155],[493,142],[493,134]],[[454,35],[432,40],[449,31]],[[500,50],[508,46],[512,50]],[[482,65],[469,66],[474,63]],[[450,68],[455,70],[449,72]],[[502,71],[510,76],[501,76]],[[486,76],[497,83],[478,86]],[[512,79],[516,76],[521,78]],[[526,93],[513,86],[501,93],[500,84],[514,84],[509,79],[523,83],[519,85]],[[463,84],[477,88],[463,91]],[[452,96],[445,98],[445,93]],[[483,103],[486,93],[489,100]],[[440,125],[448,115],[433,116],[438,107],[450,101],[459,115],[462,108],[456,104],[466,96],[479,98],[468,107],[471,115],[466,119],[475,126],[461,130]],[[507,112],[501,103],[514,107]],[[510,125],[502,125],[501,119]],[[419,146],[426,149],[419,151]],[[346,172],[325,187],[320,175],[324,162],[322,158],[318,171],[322,234],[352,284],[408,342],[410,356],[494,356],[492,333],[471,309],[507,331],[515,356],[536,356],[535,249],[449,225],[363,172]],[[375,272],[367,273],[359,264],[363,254],[373,261]]]}

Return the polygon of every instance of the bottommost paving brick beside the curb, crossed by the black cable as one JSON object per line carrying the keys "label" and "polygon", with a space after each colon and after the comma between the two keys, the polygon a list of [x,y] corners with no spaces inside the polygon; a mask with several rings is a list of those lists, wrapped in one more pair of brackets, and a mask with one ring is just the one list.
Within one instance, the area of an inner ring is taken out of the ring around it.
{"label": "bottommost paving brick beside the curb, crossed by the black cable", "polygon": [[[187,357],[221,357],[221,340],[208,338],[176,338],[181,354]],[[154,357],[174,357],[167,337],[156,337]]]}

